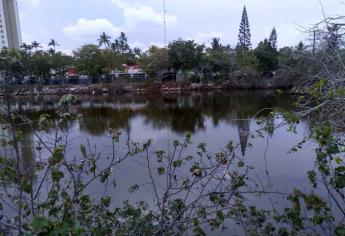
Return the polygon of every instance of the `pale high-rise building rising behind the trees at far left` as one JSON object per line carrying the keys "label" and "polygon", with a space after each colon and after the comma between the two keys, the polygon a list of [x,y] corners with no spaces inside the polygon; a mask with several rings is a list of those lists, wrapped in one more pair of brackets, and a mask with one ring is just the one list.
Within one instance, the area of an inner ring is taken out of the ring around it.
{"label": "pale high-rise building rising behind the trees at far left", "polygon": [[22,45],[16,0],[0,0],[0,48],[16,48]]}

